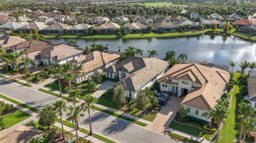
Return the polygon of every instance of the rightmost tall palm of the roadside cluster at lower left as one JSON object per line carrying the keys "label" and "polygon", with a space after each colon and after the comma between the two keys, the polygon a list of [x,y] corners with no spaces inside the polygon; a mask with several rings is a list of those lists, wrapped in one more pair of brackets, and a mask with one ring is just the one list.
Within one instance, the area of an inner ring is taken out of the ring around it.
{"label": "rightmost tall palm of the roadside cluster at lower left", "polygon": [[89,115],[89,121],[90,121],[90,134],[93,134],[93,130],[91,127],[91,110],[94,110],[93,107],[96,102],[98,102],[98,99],[96,99],[95,97],[91,96],[91,95],[85,95],[85,97],[83,98],[83,103],[81,104],[81,106],[83,107],[83,112],[87,111],[88,115]]}

